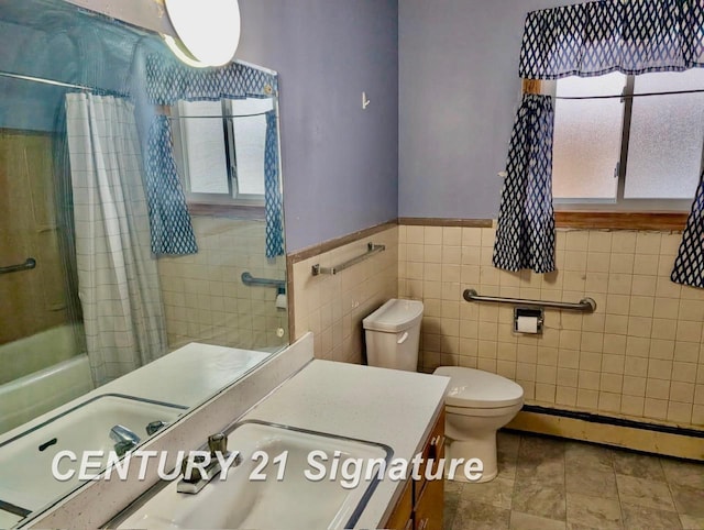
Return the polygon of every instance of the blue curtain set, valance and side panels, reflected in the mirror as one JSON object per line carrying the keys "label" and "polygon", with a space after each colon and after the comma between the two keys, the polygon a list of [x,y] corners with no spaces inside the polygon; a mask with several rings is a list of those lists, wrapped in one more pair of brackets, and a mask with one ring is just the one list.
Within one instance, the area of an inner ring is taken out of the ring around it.
{"label": "blue curtain set, valance and side panels, reflected in the mirror", "polygon": [[[190,68],[176,59],[164,55],[146,57],[146,93],[153,106],[173,106],[178,100],[187,101],[218,101],[223,98],[272,98],[278,93],[278,80],[275,74],[270,74],[241,63],[230,63],[220,68]],[[268,121],[267,121],[268,124]],[[267,145],[268,145],[267,125]],[[274,122],[274,134],[276,125]],[[152,230],[152,251],[157,255],[179,255],[198,252],[194,235],[190,214],[186,205],[186,197],[176,173],[174,161],[172,131],[168,118],[155,115],[148,131],[147,139],[147,169],[146,187],[150,207],[150,222]],[[277,162],[278,146],[275,146],[275,157],[266,159]],[[267,170],[271,173],[271,169]],[[275,169],[273,178],[278,178]],[[267,174],[268,174],[267,173]],[[273,197],[273,206],[268,206],[268,197]],[[272,252],[283,254],[283,222],[280,214],[280,191],[268,192],[267,197],[267,245],[268,234],[272,233]],[[276,202],[278,197],[278,202]],[[278,203],[278,209],[276,207]],[[270,227],[270,211],[273,224]],[[279,213],[276,214],[275,212]],[[278,232],[277,232],[278,231]],[[278,235],[275,235],[278,233]],[[275,246],[280,240],[280,252]]]}

